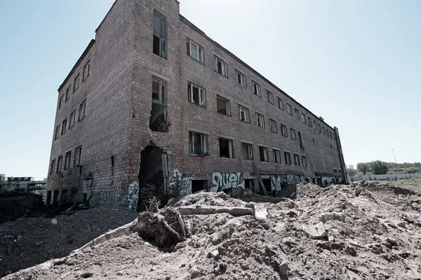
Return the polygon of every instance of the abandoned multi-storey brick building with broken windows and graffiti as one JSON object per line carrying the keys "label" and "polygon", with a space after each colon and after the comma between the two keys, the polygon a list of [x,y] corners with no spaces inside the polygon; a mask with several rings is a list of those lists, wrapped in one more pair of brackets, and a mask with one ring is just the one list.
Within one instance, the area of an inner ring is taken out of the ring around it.
{"label": "abandoned multi-storey brick building with broken windows and graffiti", "polygon": [[[269,59],[269,58],[267,58]],[[46,204],[279,193],[346,181],[338,129],[206,36],[176,0],[117,0],[58,88]]]}

